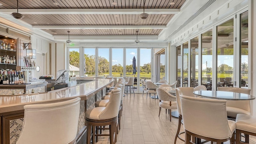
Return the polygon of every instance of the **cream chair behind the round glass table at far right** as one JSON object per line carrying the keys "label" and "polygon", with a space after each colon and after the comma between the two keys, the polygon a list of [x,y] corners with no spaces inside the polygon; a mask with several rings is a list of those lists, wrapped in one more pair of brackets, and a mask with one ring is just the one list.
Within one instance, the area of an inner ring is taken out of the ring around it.
{"label": "cream chair behind the round glass table at far right", "polygon": [[[251,90],[247,88],[234,87],[218,87],[219,91],[239,92],[243,94],[251,94]],[[228,118],[236,119],[237,114],[251,115],[251,101],[250,100],[227,100],[227,114]]]}

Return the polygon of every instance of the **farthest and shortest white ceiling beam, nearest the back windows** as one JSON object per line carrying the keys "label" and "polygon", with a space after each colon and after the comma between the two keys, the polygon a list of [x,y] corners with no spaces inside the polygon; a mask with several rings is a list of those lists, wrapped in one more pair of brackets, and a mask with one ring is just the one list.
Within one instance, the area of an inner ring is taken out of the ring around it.
{"label": "farthest and shortest white ceiling beam, nearest the back windows", "polygon": [[[68,39],[68,35],[54,35],[54,40],[66,40]],[[136,36],[134,35],[72,35],[70,36],[70,40],[134,40]],[[158,40],[157,35],[140,35],[138,36],[138,40]]]}

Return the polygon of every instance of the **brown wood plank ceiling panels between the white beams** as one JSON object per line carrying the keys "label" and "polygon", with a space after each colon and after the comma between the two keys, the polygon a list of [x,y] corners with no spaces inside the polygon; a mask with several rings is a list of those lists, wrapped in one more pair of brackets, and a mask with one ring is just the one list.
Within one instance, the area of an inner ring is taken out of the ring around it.
{"label": "brown wood plank ceiling panels between the white beams", "polygon": [[[180,8],[186,0],[145,0],[145,8]],[[170,3],[174,4],[170,4]],[[16,0],[0,0],[0,9],[16,9]],[[19,9],[141,9],[143,0],[19,0]],[[24,14],[32,26],[166,26],[174,14]],[[52,35],[67,35],[68,29],[42,29]],[[141,29],[138,35],[158,35],[163,29]],[[136,29],[70,29],[70,35],[136,35]]]}

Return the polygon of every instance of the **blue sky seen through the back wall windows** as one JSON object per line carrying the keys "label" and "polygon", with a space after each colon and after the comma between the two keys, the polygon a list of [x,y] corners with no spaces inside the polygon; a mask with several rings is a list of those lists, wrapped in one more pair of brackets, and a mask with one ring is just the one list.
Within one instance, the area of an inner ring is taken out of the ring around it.
{"label": "blue sky seen through the back wall windows", "polygon": [[[79,48],[70,48],[70,51],[79,52]],[[85,48],[85,54],[95,55],[95,48]],[[98,55],[106,58],[109,61],[109,48],[98,48]],[[137,48],[126,48],[126,65],[132,64],[132,59],[135,56],[138,66]],[[124,48],[112,48],[112,66],[121,64],[123,66]],[[140,48],[140,66],[147,64],[151,59],[151,48]],[[160,62],[164,65],[164,55],[161,55]]]}

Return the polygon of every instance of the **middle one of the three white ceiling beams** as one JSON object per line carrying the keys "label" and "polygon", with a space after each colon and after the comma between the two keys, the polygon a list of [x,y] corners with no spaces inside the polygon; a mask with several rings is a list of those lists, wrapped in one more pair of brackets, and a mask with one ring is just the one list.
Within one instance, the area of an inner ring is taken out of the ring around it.
{"label": "middle one of the three white ceiling beams", "polygon": [[33,26],[33,28],[38,29],[164,29],[166,26],[129,26],[129,25],[119,25],[119,26],[90,26],[90,25],[61,25],[61,26]]}

